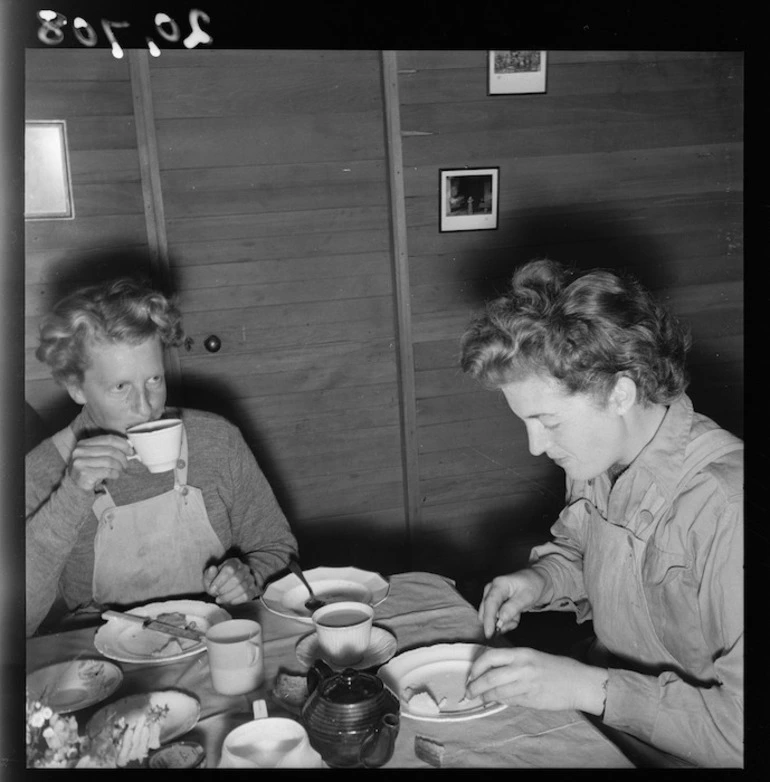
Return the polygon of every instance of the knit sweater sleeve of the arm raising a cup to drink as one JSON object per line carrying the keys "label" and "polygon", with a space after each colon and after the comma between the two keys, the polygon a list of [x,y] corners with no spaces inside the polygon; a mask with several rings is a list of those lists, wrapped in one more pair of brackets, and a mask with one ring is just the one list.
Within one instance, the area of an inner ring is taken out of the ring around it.
{"label": "knit sweater sleeve of the arm raising a cup to drink", "polygon": [[50,440],[26,457],[26,633],[33,635],[56,599],[62,570],[93,505],[93,492],[64,472]]}

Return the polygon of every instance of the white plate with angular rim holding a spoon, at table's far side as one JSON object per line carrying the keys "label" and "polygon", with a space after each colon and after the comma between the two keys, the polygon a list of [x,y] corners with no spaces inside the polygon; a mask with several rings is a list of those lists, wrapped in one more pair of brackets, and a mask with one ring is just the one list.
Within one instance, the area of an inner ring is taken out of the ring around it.
{"label": "white plate with angular rim holding a spoon, at table's far side", "polygon": [[[305,571],[305,578],[316,597],[330,603],[355,600],[376,606],[390,590],[390,583],[379,573],[354,567],[313,568]],[[260,599],[274,614],[310,624],[310,611],[305,608],[308,597],[307,587],[294,573],[289,573],[270,584]]]}

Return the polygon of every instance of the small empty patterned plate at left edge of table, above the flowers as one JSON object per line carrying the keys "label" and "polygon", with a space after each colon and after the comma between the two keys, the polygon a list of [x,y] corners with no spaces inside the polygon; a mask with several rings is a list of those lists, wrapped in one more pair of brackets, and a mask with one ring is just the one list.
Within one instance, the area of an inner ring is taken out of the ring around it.
{"label": "small empty patterned plate at left edge of table, above the flowers", "polygon": [[112,695],[123,681],[123,671],[108,660],[66,660],[38,668],[27,676],[32,700],[59,714],[93,706]]}

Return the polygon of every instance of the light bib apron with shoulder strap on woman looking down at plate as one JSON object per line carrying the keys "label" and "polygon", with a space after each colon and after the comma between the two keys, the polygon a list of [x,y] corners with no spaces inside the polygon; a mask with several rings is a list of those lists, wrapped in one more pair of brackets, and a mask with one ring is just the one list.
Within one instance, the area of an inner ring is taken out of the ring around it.
{"label": "light bib apron with shoulder strap on woman looking down at plate", "polygon": [[[671,495],[664,497],[655,485],[650,486],[641,501],[629,504],[629,513],[619,523],[602,515],[592,502],[591,490],[583,485],[585,493],[570,510],[590,517],[584,527],[589,540],[585,546],[583,579],[591,603],[596,641],[588,654],[589,663],[653,675],[673,670],[685,679],[692,679],[693,675],[709,678],[708,671],[699,670],[706,645],[696,611],[687,618],[668,619],[681,623],[674,628],[675,632],[668,634],[668,638],[677,639],[676,649],[668,648],[660,638],[659,629],[667,621],[665,604],[661,599],[656,605],[655,590],[661,583],[651,582],[657,576],[664,581],[682,577],[685,563],[681,551],[662,551],[651,537],[679,491],[695,474],[710,462],[741,448],[743,443],[737,437],[720,429],[696,438],[688,446],[683,477]],[[695,594],[696,590],[691,591]],[[653,608],[658,609],[654,612],[657,626],[650,610],[651,601]]]}

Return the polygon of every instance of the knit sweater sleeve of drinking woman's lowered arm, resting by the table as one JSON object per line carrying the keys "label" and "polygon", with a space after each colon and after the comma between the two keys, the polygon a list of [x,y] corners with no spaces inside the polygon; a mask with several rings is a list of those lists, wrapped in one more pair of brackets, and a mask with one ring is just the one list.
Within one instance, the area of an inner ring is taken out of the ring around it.
{"label": "knit sweater sleeve of drinking woman's lowered arm, resting by the table", "polygon": [[232,440],[233,543],[251,567],[261,590],[265,581],[287,566],[290,555],[297,553],[297,540],[257,460],[236,428],[232,429]]}

